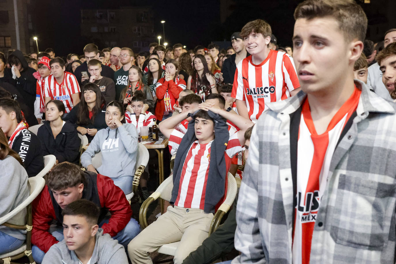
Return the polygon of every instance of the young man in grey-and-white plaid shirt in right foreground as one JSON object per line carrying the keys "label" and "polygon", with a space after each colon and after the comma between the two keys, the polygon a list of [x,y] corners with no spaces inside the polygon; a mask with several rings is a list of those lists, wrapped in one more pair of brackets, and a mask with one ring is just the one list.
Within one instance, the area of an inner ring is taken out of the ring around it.
{"label": "young man in grey-and-white plaid shirt in right foreground", "polygon": [[302,91],[251,136],[232,263],[395,263],[395,104],[353,79],[367,18],[352,0],[296,8]]}

